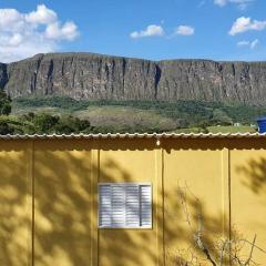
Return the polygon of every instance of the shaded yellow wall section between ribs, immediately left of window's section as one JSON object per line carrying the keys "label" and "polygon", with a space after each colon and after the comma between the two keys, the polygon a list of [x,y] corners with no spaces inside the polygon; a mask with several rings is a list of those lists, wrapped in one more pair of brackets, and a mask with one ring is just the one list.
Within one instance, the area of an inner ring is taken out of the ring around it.
{"label": "shaded yellow wall section between ribs, immediately left of window's section", "polygon": [[90,144],[34,143],[34,266],[89,264],[92,167]]}

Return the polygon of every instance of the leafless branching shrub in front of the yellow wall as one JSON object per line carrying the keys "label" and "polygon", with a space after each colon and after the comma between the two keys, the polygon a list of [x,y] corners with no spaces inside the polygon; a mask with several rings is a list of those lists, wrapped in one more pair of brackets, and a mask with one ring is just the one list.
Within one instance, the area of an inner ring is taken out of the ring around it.
{"label": "leafless branching shrub in front of the yellow wall", "polygon": [[[232,236],[226,238],[218,235],[213,235],[215,239],[211,245],[206,241],[205,235],[208,233],[204,226],[203,214],[201,212],[201,202],[191,191],[187,185],[185,187],[178,187],[177,191],[178,200],[182,205],[182,211],[185,216],[185,222],[192,234],[194,241],[194,247],[204,255],[205,258],[200,258],[195,253],[190,249],[188,256],[185,254],[177,254],[177,264],[180,266],[257,266],[258,264],[254,260],[254,250],[257,249],[262,253],[266,252],[256,245],[256,234],[252,241],[243,237],[236,229],[232,232]],[[192,214],[188,212],[188,202],[192,196],[193,205],[196,207],[196,224],[193,225]],[[247,248],[248,252],[244,250]],[[187,258],[188,257],[188,258]],[[204,264],[203,264],[204,262]]]}

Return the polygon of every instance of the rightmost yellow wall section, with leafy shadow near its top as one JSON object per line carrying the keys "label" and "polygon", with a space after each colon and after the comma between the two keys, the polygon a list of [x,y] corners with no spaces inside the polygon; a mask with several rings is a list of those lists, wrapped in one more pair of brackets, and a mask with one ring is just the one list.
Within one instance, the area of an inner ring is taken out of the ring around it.
{"label": "rightmost yellow wall section, with leafy shadow near its top", "polygon": [[[266,250],[266,144],[238,142],[231,151],[232,227]],[[249,247],[246,253],[249,253]],[[266,265],[266,253],[255,248],[255,262]]]}

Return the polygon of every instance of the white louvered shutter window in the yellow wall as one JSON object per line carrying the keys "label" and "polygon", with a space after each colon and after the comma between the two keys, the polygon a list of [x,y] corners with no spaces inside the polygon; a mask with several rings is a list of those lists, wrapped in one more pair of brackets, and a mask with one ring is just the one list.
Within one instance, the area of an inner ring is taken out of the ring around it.
{"label": "white louvered shutter window in the yellow wall", "polygon": [[151,228],[151,184],[99,184],[99,227]]}

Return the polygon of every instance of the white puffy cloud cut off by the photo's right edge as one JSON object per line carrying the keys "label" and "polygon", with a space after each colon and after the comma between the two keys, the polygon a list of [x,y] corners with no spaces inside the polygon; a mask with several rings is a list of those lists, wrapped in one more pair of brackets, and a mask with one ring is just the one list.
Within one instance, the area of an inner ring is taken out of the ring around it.
{"label": "white puffy cloud cut off by the photo's right edge", "polygon": [[252,20],[250,18],[238,18],[229,30],[231,35],[243,33],[249,30],[260,31],[266,29],[266,21]]}

